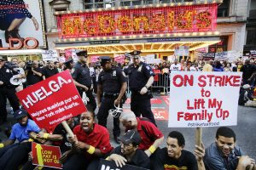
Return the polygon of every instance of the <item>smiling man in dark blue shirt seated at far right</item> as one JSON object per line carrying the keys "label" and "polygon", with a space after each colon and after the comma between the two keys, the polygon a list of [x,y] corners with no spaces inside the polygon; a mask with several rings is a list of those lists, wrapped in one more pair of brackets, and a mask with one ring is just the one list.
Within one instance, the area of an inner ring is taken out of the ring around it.
{"label": "smiling man in dark blue shirt seated at far right", "polygon": [[206,150],[204,162],[208,170],[255,170],[255,161],[244,156],[241,149],[235,145],[236,134],[229,127],[219,127],[215,143]]}

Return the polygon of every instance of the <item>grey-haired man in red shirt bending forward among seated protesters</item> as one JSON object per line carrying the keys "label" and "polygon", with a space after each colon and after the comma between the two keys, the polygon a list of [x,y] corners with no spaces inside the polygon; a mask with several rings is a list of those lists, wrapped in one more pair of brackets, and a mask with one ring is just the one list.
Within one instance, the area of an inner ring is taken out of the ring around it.
{"label": "grey-haired man in red shirt bending forward among seated protesters", "polygon": [[148,157],[154,153],[164,140],[164,135],[160,132],[160,129],[147,118],[136,117],[133,112],[124,112],[119,119],[126,131],[137,129],[143,139],[138,149],[144,150]]}

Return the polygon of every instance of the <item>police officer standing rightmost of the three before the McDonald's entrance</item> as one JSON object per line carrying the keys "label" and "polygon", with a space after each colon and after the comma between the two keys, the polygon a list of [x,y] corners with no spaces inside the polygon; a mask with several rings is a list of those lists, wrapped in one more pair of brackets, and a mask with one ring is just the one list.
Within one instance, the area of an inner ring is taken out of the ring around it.
{"label": "police officer standing rightmost of the three before the McDonald's entrance", "polygon": [[125,74],[129,76],[129,87],[131,90],[131,111],[137,117],[143,115],[155,124],[154,115],[151,111],[150,99],[153,98],[148,88],[154,82],[154,72],[146,63],[140,61],[140,51],[132,51],[131,58],[133,64],[125,69]]}

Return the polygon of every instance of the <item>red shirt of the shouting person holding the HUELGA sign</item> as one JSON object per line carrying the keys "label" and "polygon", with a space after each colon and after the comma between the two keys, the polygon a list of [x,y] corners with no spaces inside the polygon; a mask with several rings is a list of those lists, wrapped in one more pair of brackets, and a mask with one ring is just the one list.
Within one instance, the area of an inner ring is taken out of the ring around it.
{"label": "red shirt of the shouting person holding the HUELGA sign", "polygon": [[[77,136],[79,141],[94,146],[96,149],[101,150],[103,154],[113,150],[113,147],[109,143],[109,133],[106,127],[102,127],[95,123],[93,131],[90,134],[87,134],[80,125],[78,125],[73,128],[73,133]],[[88,154],[87,152],[85,153]]]}

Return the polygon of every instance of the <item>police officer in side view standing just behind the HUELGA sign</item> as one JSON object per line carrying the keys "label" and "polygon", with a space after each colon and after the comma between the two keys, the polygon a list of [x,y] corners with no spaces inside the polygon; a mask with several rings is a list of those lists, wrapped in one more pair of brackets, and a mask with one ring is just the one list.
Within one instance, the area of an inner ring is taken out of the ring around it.
{"label": "police officer in side view standing just behind the HUELGA sign", "polygon": [[79,94],[82,96],[83,92],[85,92],[86,96],[89,98],[88,105],[91,105],[93,111],[96,110],[96,100],[92,94],[91,88],[91,77],[90,70],[86,65],[87,62],[87,51],[80,51],[77,53],[79,61],[74,65],[71,73],[74,80],[75,85],[79,90]]}

